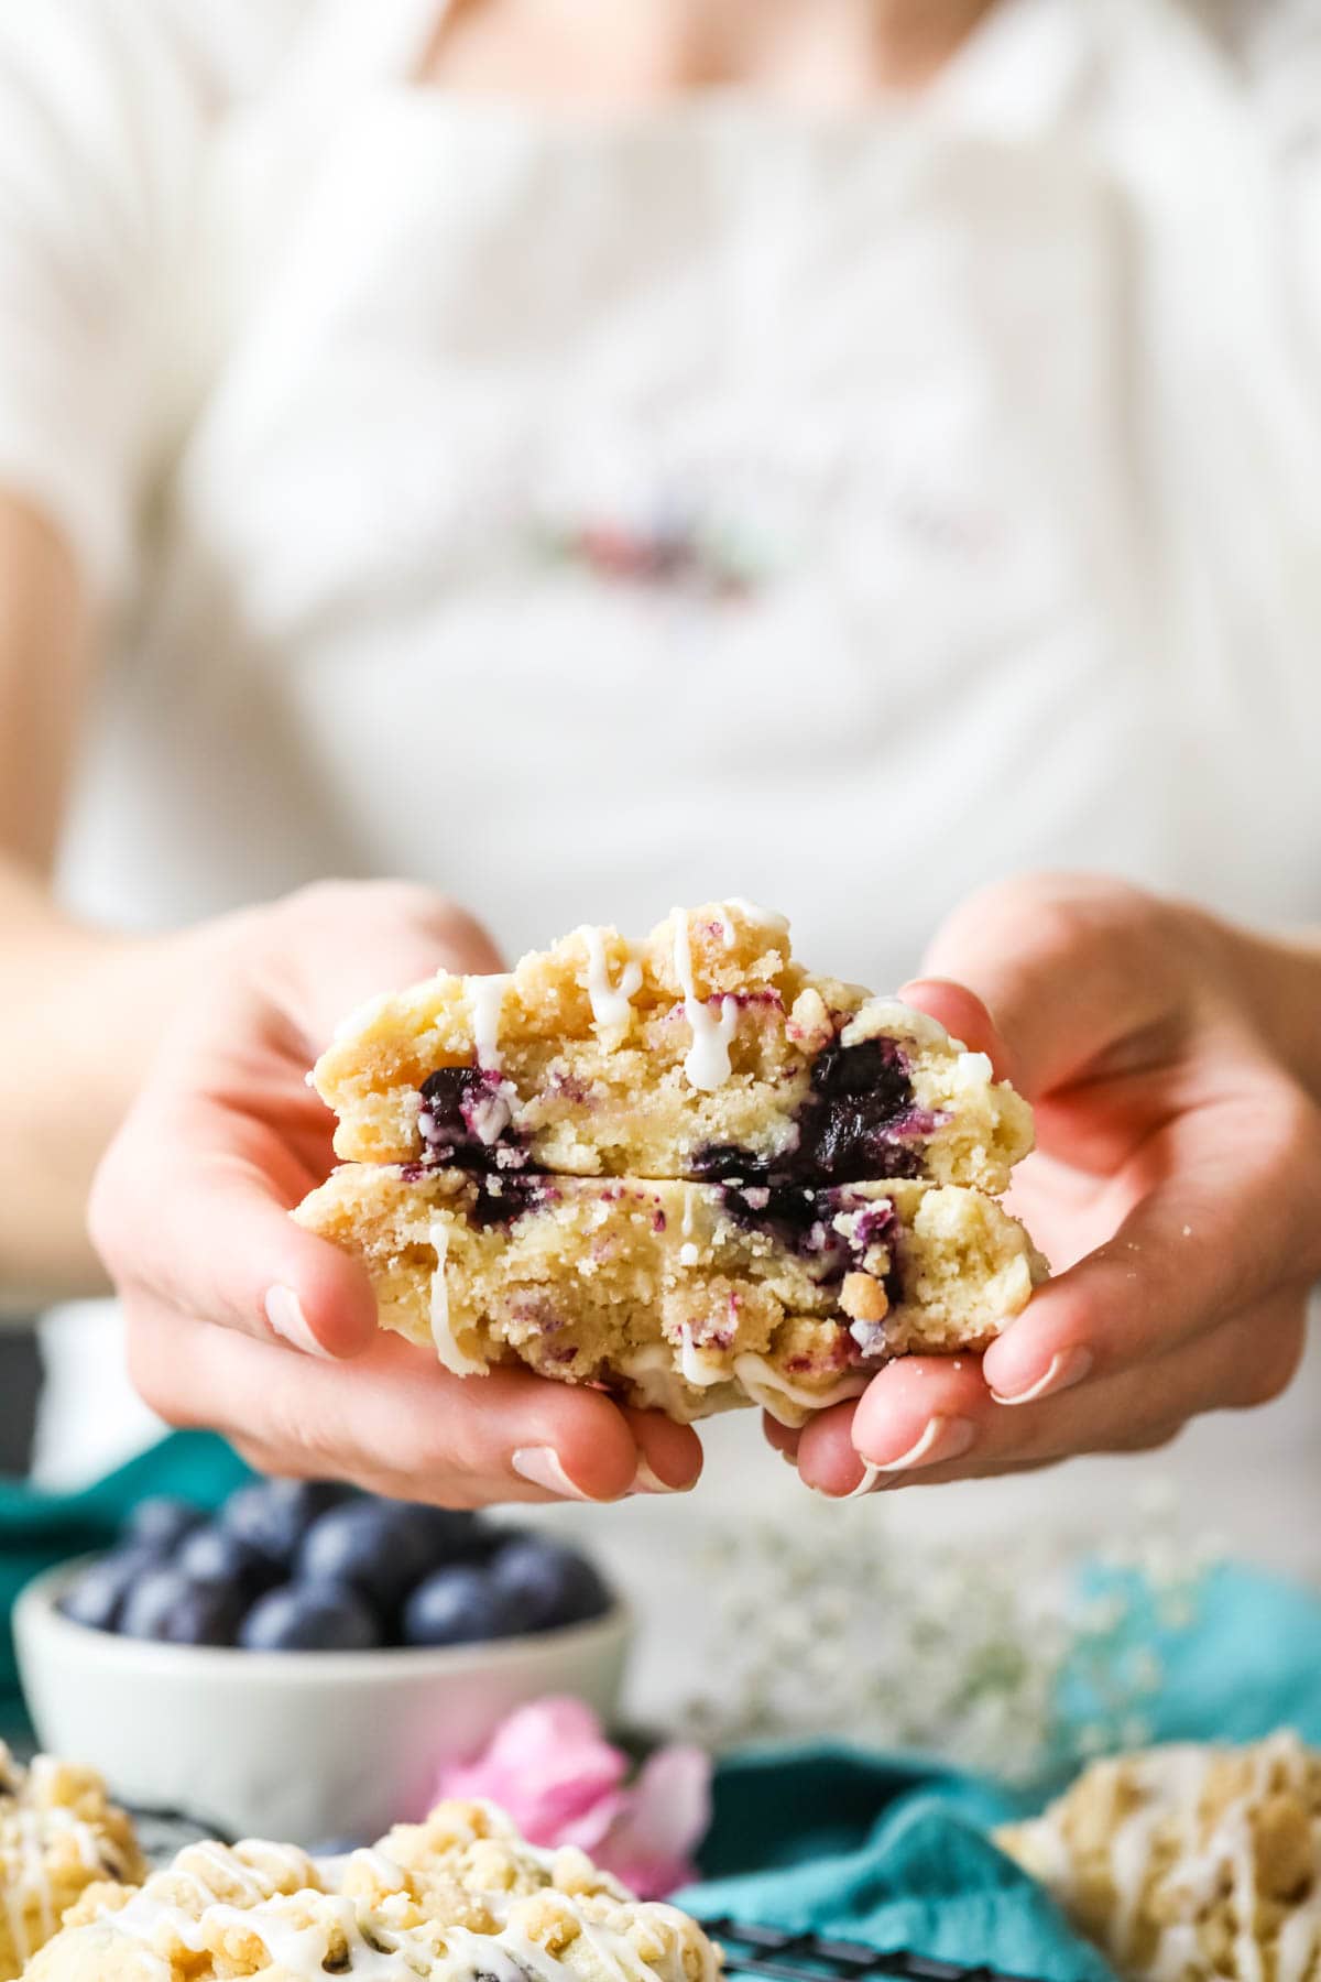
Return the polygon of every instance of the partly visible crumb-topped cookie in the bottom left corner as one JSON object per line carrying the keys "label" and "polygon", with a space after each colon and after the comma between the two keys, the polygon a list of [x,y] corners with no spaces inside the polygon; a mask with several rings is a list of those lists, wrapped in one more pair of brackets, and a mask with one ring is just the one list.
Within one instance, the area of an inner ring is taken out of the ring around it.
{"label": "partly visible crumb-topped cookie in the bottom left corner", "polygon": [[99,1776],[46,1754],[24,1770],[0,1742],[0,1982],[24,1972],[93,1881],[143,1877],[133,1825]]}

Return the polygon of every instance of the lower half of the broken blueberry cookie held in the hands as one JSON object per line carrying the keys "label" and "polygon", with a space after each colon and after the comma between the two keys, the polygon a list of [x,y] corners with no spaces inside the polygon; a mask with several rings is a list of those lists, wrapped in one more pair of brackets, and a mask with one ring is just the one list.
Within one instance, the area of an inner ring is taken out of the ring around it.
{"label": "lower half of the broken blueberry cookie held in the hands", "polygon": [[295,1217],[457,1376],[519,1358],[677,1419],[761,1403],[800,1425],[893,1356],[984,1348],[1046,1272],[998,1203],[913,1181],[349,1163]]}

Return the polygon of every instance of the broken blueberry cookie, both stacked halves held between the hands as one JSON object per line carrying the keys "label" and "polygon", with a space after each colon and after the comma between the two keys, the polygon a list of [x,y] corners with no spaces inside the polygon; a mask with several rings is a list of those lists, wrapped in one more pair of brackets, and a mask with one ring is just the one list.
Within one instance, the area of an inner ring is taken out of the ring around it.
{"label": "broken blueberry cookie, both stacked halves held between the hands", "polygon": [[992,1195],[1028,1104],[749,902],[376,999],[313,1080],[356,1161],[295,1217],[457,1376],[800,1425],[893,1356],[984,1348],[1046,1274]]}

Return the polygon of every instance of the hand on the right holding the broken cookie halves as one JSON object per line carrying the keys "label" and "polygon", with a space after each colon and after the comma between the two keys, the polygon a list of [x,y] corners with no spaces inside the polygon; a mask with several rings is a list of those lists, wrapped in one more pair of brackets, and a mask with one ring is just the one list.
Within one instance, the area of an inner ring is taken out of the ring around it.
{"label": "hand on the right holding the broken cookie halves", "polygon": [[850,1494],[1147,1451],[1275,1397],[1321,1276],[1321,1112],[1291,1056],[1317,959],[1066,876],[974,898],[927,961],[901,995],[1036,1104],[1010,1209],[1056,1278],[984,1358],[901,1358],[772,1445]]}

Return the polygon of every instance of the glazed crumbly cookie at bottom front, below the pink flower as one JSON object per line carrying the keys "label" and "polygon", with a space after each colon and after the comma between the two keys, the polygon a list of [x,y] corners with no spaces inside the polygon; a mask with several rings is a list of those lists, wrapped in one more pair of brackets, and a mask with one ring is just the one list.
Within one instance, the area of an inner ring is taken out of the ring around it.
{"label": "glazed crumbly cookie at bottom front, below the pink flower", "polygon": [[287,1845],[190,1845],[125,1895],[93,1887],[30,1982],[717,1982],[675,1907],[576,1849],[537,1851],[485,1804],[440,1804],[329,1877]]}

